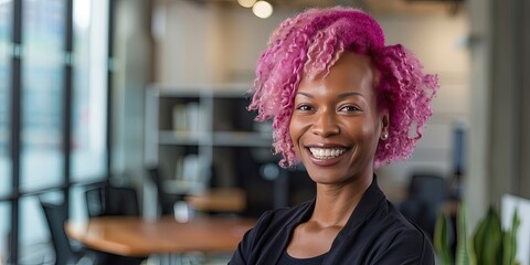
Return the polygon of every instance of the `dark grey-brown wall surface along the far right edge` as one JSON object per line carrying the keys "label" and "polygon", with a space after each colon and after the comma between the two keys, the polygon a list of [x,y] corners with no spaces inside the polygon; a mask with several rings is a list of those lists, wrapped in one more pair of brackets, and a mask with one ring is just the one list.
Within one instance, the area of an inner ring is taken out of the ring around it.
{"label": "dark grey-brown wall surface along the far right edge", "polygon": [[507,192],[530,198],[530,4],[494,1],[492,10],[488,169],[492,203],[498,203]]}

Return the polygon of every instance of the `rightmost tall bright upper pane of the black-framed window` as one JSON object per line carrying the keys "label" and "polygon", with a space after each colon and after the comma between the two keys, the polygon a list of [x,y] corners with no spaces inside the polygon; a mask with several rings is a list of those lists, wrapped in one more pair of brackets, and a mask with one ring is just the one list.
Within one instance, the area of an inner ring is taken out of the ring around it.
{"label": "rightmost tall bright upper pane of the black-framed window", "polygon": [[107,6],[74,0],[74,181],[106,177]]}

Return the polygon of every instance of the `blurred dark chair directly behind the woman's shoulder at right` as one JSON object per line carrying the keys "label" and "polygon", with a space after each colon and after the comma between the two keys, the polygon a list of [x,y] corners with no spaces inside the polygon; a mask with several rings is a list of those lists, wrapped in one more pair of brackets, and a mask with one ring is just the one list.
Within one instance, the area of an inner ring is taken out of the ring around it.
{"label": "blurred dark chair directly behind the woman's shoulder at right", "polygon": [[409,195],[399,210],[433,239],[437,214],[447,198],[447,181],[442,176],[417,172],[412,176]]}

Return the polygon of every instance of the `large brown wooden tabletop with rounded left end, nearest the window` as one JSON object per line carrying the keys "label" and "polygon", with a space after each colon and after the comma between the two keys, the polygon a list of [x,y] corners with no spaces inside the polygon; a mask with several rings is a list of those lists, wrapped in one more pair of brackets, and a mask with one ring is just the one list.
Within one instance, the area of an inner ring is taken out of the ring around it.
{"label": "large brown wooden tabletop with rounded left end, nearest the window", "polygon": [[233,252],[254,220],[203,218],[178,223],[165,216],[146,221],[131,216],[94,218],[68,221],[67,235],[85,246],[121,256],[171,253]]}

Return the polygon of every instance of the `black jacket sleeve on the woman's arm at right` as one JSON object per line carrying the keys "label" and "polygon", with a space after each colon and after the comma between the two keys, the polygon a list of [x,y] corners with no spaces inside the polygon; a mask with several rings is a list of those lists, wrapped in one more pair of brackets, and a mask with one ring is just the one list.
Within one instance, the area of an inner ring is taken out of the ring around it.
{"label": "black jacket sleeve on the woman's arm at right", "polygon": [[378,265],[434,265],[431,242],[420,231],[409,230],[395,236],[389,247],[372,264]]}

